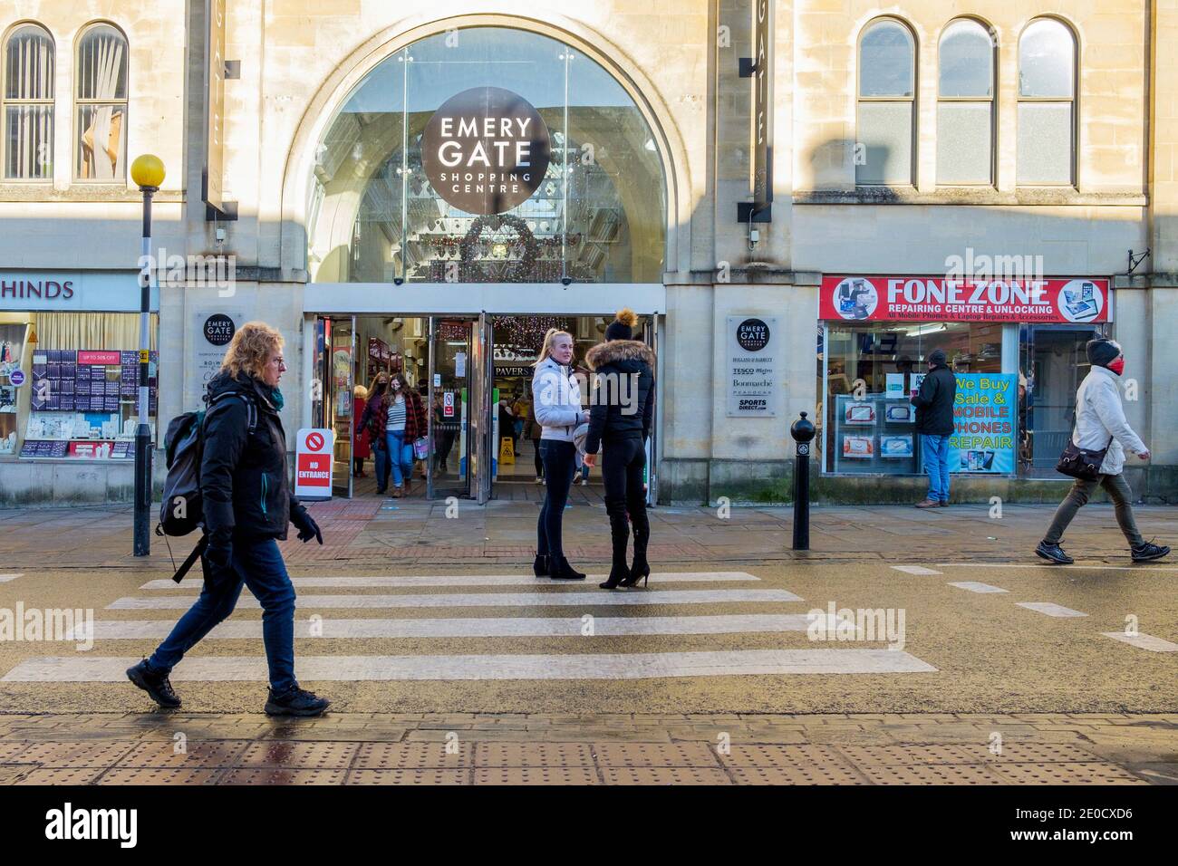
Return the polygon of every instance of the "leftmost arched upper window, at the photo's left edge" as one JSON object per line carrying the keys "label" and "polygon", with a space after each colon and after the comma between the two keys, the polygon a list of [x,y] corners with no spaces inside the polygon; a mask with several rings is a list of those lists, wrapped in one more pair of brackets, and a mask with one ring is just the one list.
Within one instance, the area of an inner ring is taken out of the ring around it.
{"label": "leftmost arched upper window, at the photo's left edge", "polygon": [[53,39],[40,25],[19,25],[5,40],[5,180],[53,177]]}

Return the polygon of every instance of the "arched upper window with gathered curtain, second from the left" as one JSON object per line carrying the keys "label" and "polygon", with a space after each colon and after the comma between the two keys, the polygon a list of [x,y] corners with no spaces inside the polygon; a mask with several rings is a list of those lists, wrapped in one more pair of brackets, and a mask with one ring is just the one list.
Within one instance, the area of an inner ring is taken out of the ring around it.
{"label": "arched upper window with gathered curtain, second from the left", "polygon": [[108,24],[78,42],[75,94],[79,180],[119,183],[127,163],[127,40]]}

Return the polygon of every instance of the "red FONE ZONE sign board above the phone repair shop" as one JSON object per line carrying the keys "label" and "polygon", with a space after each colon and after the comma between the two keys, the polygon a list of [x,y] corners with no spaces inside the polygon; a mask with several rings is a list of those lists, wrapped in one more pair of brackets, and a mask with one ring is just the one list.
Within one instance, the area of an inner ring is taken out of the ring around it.
{"label": "red FONE ZONE sign board above the phone repair shop", "polygon": [[1107,279],[823,277],[819,317],[852,322],[1107,322]]}

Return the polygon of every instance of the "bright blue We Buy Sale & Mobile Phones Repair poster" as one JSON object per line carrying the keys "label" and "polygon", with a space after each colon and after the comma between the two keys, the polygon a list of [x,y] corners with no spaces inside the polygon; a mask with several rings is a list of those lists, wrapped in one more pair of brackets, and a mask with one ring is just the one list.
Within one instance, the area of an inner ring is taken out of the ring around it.
{"label": "bright blue We Buy Sale & Mobile Phones Repair poster", "polygon": [[1019,392],[1014,373],[957,373],[951,472],[1010,475],[1018,443]]}

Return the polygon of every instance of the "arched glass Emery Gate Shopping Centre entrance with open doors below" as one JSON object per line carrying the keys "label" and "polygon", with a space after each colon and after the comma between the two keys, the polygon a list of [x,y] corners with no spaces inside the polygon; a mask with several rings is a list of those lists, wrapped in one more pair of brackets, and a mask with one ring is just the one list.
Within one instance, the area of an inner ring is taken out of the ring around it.
{"label": "arched glass Emery Gate Shopping Centre entrance with open doors below", "polygon": [[[530,379],[547,330],[573,335],[576,368],[629,306],[659,349],[666,166],[636,97],[544,35],[450,41],[380,60],[318,139],[304,376],[310,423],[336,432],[335,495],[377,493],[360,419],[382,373],[403,373],[428,417],[410,496],[538,498]],[[654,501],[657,432],[649,447]]]}

